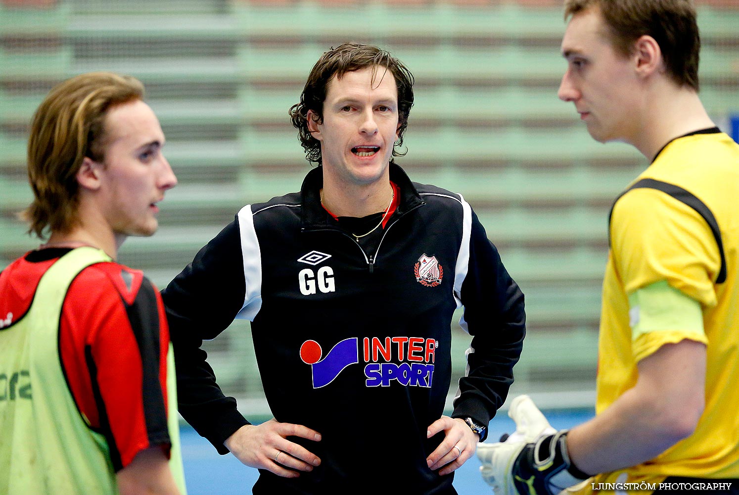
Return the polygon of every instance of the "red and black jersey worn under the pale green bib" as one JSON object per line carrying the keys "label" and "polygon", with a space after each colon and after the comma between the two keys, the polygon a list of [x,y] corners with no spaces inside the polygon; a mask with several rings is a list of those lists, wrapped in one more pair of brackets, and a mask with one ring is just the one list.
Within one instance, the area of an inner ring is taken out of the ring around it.
{"label": "red and black jersey worn under the pale green bib", "polygon": [[[28,252],[0,273],[0,314],[30,308],[41,276],[69,249]],[[84,269],[69,286],[59,353],[80,414],[108,440],[115,471],[146,448],[170,446],[167,429],[169,331],[159,292],[118,263]]]}

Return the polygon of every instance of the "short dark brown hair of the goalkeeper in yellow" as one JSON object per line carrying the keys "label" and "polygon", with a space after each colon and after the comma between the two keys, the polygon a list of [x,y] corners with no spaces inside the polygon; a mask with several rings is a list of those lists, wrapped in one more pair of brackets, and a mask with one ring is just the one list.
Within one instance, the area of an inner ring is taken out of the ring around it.
{"label": "short dark brown hair of the goalkeeper in yellow", "polygon": [[692,0],[565,0],[565,18],[590,7],[599,9],[616,51],[631,55],[640,36],[652,36],[672,81],[698,91],[701,36]]}

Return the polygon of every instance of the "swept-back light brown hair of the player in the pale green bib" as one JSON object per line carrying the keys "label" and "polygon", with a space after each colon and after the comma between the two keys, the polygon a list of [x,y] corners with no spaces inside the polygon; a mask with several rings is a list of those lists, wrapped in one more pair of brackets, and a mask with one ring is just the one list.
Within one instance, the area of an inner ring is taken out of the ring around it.
{"label": "swept-back light brown hair of the player in the pale green bib", "polygon": [[102,161],[106,112],[143,99],[143,84],[129,75],[86,73],[61,82],[38,106],[28,141],[33,203],[21,214],[29,233],[44,238],[78,221],[77,172],[85,157]]}

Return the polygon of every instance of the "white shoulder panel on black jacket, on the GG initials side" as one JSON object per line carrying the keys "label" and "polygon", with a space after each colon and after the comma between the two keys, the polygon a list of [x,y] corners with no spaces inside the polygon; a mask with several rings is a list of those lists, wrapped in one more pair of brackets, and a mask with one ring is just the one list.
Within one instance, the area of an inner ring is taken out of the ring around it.
{"label": "white shoulder panel on black jacket, on the GG initials side", "polygon": [[239,210],[238,217],[246,292],[244,306],[236,314],[236,318],[254,320],[259,309],[262,309],[262,252],[259,250],[259,240],[254,230],[251,205],[248,204]]}

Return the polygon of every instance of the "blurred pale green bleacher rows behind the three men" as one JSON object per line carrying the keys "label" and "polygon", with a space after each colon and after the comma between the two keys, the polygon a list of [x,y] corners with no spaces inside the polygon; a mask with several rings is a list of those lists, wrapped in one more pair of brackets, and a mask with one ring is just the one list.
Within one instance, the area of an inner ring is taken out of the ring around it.
{"label": "blurred pale green bleacher rows behind the three men", "polygon": [[[739,8],[698,1],[702,95],[719,121],[739,107]],[[120,261],[165,286],[246,203],[299,188],[309,169],[287,109],[322,52],[387,47],[415,75],[398,159],[415,181],[471,203],[526,294],[529,335],[517,387],[592,387],[610,201],[646,166],[592,141],[556,98],[560,2],[484,0],[9,1],[0,3],[0,266],[35,240],[25,143],[33,110],[63,78],[139,77],[180,179],[160,231]],[[258,397],[248,325],[208,343],[225,388]],[[454,373],[469,338],[454,329]]]}

